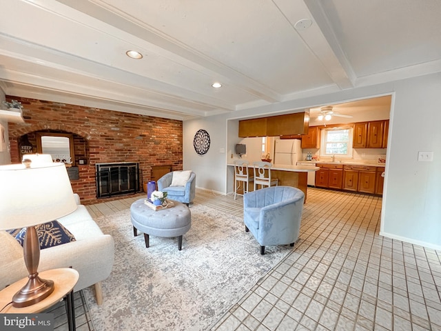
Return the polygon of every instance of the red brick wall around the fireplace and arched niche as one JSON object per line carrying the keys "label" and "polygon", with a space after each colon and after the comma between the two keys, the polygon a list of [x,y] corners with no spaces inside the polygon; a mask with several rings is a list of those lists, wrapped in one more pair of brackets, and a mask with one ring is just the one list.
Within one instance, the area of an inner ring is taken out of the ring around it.
{"label": "red brick wall around the fireplace and arched niche", "polygon": [[28,137],[34,152],[36,131],[74,134],[76,161],[87,160],[79,167],[79,180],[71,181],[84,204],[102,202],[96,199],[95,163],[139,162],[142,183],[150,180],[152,165],[172,165],[182,170],[182,121],[127,114],[65,103],[6,97],[23,105],[25,123],[9,123],[11,161],[19,163],[19,142]]}

